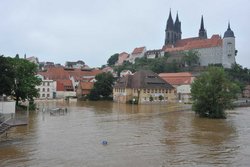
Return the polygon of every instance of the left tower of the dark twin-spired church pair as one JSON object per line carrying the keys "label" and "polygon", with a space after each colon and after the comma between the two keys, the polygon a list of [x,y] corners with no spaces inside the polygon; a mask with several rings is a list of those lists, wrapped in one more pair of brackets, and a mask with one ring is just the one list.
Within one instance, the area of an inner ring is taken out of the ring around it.
{"label": "left tower of the dark twin-spired church pair", "polygon": [[171,10],[169,12],[167,26],[165,30],[165,45],[173,45],[175,43],[175,29],[172,19]]}

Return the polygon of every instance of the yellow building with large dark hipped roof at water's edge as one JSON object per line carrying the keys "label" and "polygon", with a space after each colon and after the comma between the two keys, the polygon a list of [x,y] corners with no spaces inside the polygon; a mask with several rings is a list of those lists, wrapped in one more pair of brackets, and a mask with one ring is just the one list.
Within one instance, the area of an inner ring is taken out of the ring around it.
{"label": "yellow building with large dark hipped roof at water's edge", "polygon": [[120,78],[113,87],[113,100],[121,103],[175,102],[175,88],[156,73],[141,70]]}

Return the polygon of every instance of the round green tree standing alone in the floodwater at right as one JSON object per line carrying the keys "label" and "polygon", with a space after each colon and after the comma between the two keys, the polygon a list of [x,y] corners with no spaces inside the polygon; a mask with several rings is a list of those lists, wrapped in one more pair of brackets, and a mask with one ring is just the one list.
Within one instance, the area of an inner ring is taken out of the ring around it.
{"label": "round green tree standing alone in the floodwater at right", "polygon": [[192,109],[200,117],[226,118],[239,87],[228,79],[223,68],[210,67],[191,85]]}

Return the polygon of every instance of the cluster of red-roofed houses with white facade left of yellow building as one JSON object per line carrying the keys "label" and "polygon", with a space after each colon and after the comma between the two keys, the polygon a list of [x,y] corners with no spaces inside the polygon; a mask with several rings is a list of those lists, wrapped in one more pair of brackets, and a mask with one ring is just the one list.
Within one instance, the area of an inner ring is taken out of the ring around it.
{"label": "cluster of red-roofed houses with white facade left of yellow building", "polygon": [[42,80],[37,86],[39,99],[82,97],[89,94],[95,76],[102,73],[99,69],[83,70],[79,68],[51,67],[38,72]]}

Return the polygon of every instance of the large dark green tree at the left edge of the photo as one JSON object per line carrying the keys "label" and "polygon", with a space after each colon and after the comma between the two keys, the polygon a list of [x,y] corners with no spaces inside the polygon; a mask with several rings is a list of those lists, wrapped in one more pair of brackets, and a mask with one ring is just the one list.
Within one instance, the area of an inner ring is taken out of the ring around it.
{"label": "large dark green tree at the left edge of the photo", "polygon": [[[37,66],[25,59],[5,58],[1,57],[1,88],[6,95],[11,95],[16,100],[16,104],[20,100],[33,101],[38,96],[38,90],[35,88],[41,83],[37,78]],[[3,64],[2,64],[3,63]]]}

